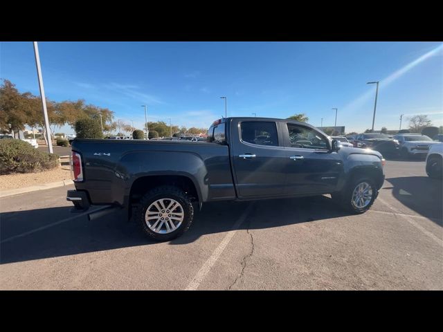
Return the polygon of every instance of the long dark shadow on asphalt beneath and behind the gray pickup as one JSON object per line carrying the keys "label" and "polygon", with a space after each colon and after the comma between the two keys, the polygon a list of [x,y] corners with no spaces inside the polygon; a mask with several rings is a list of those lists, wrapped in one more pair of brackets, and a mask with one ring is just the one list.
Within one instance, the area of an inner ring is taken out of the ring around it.
{"label": "long dark shadow on asphalt beneath and behind the gray pickup", "polygon": [[[253,208],[239,225],[240,230],[276,228],[349,215],[334,206],[327,196],[207,203],[195,212],[190,230],[168,244],[184,245],[206,234],[227,232],[250,204]],[[126,222],[122,212],[88,221],[86,215],[72,219],[69,210],[70,207],[59,207],[2,213],[0,264],[158,243],[147,239],[134,222]]]}

